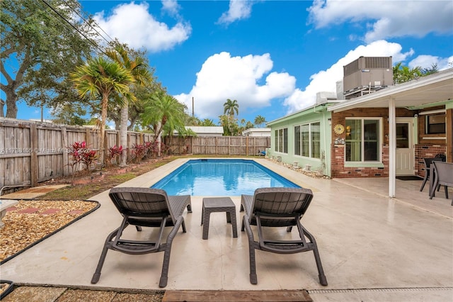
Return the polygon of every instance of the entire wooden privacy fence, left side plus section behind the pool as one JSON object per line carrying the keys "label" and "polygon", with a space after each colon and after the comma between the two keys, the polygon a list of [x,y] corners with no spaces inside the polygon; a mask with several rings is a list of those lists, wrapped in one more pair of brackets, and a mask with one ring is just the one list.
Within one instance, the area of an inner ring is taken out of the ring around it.
{"label": "entire wooden privacy fence, left side plus section behind the pool", "polygon": [[[149,133],[128,132],[128,160],[132,146],[153,141],[153,138]],[[83,141],[88,149],[101,149],[98,131],[94,128],[0,118],[0,194],[2,189],[36,186],[82,169],[76,167],[73,171],[69,151],[74,142]],[[256,155],[258,150],[270,146],[270,138],[228,136],[166,137],[162,141],[163,151],[171,155]],[[115,145],[120,145],[119,131],[105,130],[104,152]]]}

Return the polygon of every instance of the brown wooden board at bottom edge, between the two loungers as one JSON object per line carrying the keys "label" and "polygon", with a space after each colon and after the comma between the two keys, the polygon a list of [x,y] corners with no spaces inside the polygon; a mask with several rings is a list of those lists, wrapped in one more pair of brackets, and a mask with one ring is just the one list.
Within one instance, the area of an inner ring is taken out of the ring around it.
{"label": "brown wooden board at bottom edge, between the two loungers", "polygon": [[279,291],[173,291],[166,290],[162,302],[312,302],[306,290],[279,290]]}

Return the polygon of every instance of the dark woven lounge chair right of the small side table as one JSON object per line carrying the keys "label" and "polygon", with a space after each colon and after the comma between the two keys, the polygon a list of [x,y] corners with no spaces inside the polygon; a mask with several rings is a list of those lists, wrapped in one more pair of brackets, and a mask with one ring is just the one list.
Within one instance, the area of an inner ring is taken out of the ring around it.
{"label": "dark woven lounge chair right of the small side table", "polygon": [[[300,222],[312,198],[309,189],[279,187],[256,189],[253,196],[241,196],[241,211],[245,211],[241,230],[245,228],[248,236],[251,284],[258,283],[255,250],[263,250],[277,254],[313,251],[319,283],[327,285],[316,240]],[[254,240],[251,225],[258,228],[258,241]],[[287,232],[291,232],[293,226],[297,226],[299,240],[267,240],[263,237],[263,227],[287,227]]]}

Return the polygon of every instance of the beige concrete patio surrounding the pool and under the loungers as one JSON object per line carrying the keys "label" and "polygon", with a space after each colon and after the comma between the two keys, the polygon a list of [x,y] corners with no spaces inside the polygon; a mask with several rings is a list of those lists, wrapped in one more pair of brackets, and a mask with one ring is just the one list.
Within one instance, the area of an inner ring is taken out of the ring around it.
{"label": "beige concrete patio surrounding the pool and under the loungers", "polygon": [[[314,301],[453,301],[453,206],[443,190],[432,200],[420,181],[314,179],[266,159],[257,162],[314,191],[302,223],[316,237],[328,286],[321,286],[313,254],[256,252],[258,284],[248,279],[246,233],[232,236],[224,213],[212,213],[202,240],[202,197],[184,213],[187,233],[173,241],[166,290],[306,289]],[[175,160],[121,186],[149,187],[176,169]],[[449,194],[453,192],[449,191]],[[236,204],[238,230],[242,213]],[[450,196],[451,198],[451,196]],[[159,289],[164,253],[132,256],[109,251],[98,284],[91,284],[105,237],[121,216],[108,190],[91,198],[101,207],[61,232],[2,264],[1,279],[93,289]],[[130,228],[131,235],[147,237]],[[286,233],[285,229],[280,230]]]}

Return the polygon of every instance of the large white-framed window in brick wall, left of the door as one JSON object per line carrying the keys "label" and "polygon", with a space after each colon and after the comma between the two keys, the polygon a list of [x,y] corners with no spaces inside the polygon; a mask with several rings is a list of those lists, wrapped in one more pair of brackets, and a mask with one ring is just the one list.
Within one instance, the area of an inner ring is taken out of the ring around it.
{"label": "large white-framed window in brick wall, left of the door", "polygon": [[381,119],[346,118],[346,162],[381,161]]}

